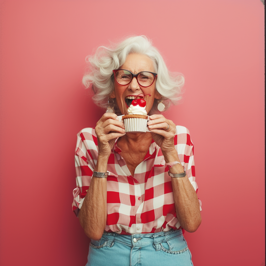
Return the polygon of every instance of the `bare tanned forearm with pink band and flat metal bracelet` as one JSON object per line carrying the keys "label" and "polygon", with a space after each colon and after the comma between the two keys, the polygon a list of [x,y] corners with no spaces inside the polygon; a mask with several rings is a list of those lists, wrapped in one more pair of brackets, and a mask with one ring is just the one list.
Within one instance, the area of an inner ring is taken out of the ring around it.
{"label": "bare tanned forearm with pink band and flat metal bracelet", "polygon": [[[179,161],[176,150],[164,153],[166,163]],[[181,164],[169,167],[169,172],[176,174],[184,172]],[[188,176],[171,177],[176,216],[180,225],[188,232],[194,232],[201,224],[200,204],[196,191],[190,183]]]}

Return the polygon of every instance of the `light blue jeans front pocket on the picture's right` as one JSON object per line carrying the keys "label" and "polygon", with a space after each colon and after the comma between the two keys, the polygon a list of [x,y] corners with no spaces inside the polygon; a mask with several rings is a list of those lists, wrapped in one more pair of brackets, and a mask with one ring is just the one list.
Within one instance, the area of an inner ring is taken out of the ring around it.
{"label": "light blue jeans front pocket on the picture's right", "polygon": [[161,242],[160,245],[162,251],[170,254],[180,254],[188,250],[188,245],[182,235],[165,242]]}

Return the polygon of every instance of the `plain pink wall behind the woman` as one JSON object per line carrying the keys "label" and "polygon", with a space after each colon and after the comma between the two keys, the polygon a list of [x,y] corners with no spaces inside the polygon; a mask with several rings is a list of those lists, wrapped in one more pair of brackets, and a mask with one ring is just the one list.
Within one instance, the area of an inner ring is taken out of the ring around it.
{"label": "plain pink wall behind the woman", "polygon": [[195,145],[202,224],[185,233],[194,266],[265,265],[263,4],[132,3],[1,1],[0,264],[85,265],[74,148],[103,114],[81,84],[85,57],[144,34],[185,76],[184,102],[165,116]]}

